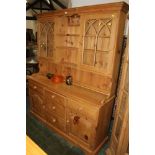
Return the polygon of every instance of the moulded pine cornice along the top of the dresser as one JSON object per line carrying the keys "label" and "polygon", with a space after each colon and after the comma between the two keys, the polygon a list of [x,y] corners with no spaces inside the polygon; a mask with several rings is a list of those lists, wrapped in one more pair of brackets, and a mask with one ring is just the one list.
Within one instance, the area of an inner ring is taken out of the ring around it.
{"label": "moulded pine cornice along the top of the dresser", "polygon": [[68,9],[62,9],[62,10],[54,10],[51,12],[38,14],[37,18],[44,17],[44,16],[62,15],[65,12],[67,12],[67,14],[70,14],[70,13],[83,14],[83,13],[90,13],[90,12],[105,12],[105,11],[106,12],[123,11],[127,13],[128,10],[129,10],[129,5],[127,3],[116,2],[116,3],[98,4],[98,5],[89,5],[89,6],[83,6],[83,7],[74,7],[74,8],[68,8]]}

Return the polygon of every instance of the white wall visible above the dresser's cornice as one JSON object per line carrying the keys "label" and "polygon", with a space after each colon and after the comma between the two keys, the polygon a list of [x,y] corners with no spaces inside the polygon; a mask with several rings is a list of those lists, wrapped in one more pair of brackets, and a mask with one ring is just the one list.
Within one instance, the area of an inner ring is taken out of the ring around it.
{"label": "white wall visible above the dresser's cornice", "polygon": [[113,3],[124,1],[129,4],[129,0],[72,0],[72,7],[103,4],[103,3]]}

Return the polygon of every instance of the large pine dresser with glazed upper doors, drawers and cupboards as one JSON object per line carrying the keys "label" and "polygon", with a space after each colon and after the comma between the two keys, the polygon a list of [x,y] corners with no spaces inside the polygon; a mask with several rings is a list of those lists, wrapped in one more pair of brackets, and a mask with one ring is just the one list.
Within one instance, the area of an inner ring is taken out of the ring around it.
{"label": "large pine dresser with glazed upper doors, drawers and cupboards", "polygon": [[[126,3],[38,15],[39,73],[29,77],[31,113],[96,155],[107,139],[120,64]],[[71,75],[72,85],[46,74]]]}

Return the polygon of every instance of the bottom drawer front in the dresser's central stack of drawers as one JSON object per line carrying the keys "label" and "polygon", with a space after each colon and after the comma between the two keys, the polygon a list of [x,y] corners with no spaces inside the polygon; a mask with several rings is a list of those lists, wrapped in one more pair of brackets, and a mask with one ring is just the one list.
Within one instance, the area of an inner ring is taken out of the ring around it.
{"label": "bottom drawer front in the dresser's central stack of drawers", "polygon": [[65,120],[63,120],[62,118],[60,118],[58,116],[51,115],[51,113],[46,113],[46,120],[48,123],[50,123],[54,127],[58,128],[62,131],[66,131]]}

